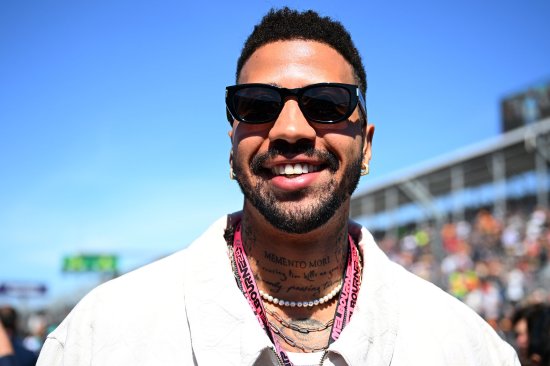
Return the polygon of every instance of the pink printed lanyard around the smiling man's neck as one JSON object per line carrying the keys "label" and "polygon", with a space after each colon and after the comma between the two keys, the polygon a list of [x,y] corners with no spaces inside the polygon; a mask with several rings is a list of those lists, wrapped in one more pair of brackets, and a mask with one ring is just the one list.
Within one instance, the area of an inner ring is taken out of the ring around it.
{"label": "pink printed lanyard around the smiling man's neck", "polygon": [[[357,250],[352,250],[352,246],[355,246],[351,235],[348,234],[349,247],[348,247],[348,263],[344,276],[344,284],[338,298],[338,306],[334,314],[334,323],[330,332],[328,344],[330,345],[340,337],[340,333],[344,329],[347,323],[351,319],[353,310],[357,302],[357,294],[359,293],[359,287],[361,286],[361,273],[359,266],[359,257]],[[250,264],[246,257],[246,253],[243,248],[242,236],[241,236],[241,224],[237,224],[235,230],[235,236],[233,239],[233,255],[235,260],[235,267],[237,267],[237,273],[241,282],[241,289],[244,296],[248,300],[252,311],[256,315],[258,322],[262,326],[263,330],[267,333],[271,342],[275,346],[277,354],[280,356],[284,365],[292,366],[292,363],[288,359],[286,352],[282,349],[277,338],[273,335],[269,326],[267,316],[265,313],[264,305],[260,297],[260,291],[254,280],[254,275],[250,269]]]}

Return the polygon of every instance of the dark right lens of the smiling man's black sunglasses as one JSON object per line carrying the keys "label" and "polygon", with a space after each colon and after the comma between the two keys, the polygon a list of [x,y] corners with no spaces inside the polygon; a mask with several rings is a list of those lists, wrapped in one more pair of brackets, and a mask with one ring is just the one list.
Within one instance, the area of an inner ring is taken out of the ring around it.
{"label": "dark right lens of the smiling man's black sunglasses", "polygon": [[304,114],[318,122],[336,122],[347,117],[351,97],[349,91],[338,86],[318,86],[302,95]]}

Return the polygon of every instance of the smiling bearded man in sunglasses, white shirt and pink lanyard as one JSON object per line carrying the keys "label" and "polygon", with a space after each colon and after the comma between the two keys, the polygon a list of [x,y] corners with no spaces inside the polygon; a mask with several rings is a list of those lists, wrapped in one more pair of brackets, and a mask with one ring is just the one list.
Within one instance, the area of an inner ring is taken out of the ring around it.
{"label": "smiling bearded man in sunglasses, white shirt and pink lanyard", "polygon": [[267,14],[226,89],[243,211],[92,291],[39,365],[517,365],[475,313],[348,221],[371,158],[365,90],[340,23]]}

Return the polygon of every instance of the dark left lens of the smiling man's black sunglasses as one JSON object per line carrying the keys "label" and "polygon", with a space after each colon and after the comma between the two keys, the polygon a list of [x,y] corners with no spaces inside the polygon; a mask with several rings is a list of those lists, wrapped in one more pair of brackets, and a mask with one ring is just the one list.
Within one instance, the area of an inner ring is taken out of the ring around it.
{"label": "dark left lens of the smiling man's black sunglasses", "polygon": [[277,118],[282,105],[279,92],[261,86],[239,89],[233,95],[233,106],[239,118],[249,123],[263,123]]}

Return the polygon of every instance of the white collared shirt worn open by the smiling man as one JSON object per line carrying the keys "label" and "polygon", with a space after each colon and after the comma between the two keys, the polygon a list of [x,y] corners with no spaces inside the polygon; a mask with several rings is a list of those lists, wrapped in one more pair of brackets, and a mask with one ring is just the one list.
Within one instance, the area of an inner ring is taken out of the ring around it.
{"label": "white collared shirt worn open by the smiling man", "polygon": [[[214,223],[187,249],[107,282],[48,336],[38,366],[273,365],[273,345],[238,289]],[[514,350],[466,305],[352,233],[363,283],[324,365],[507,366]]]}

